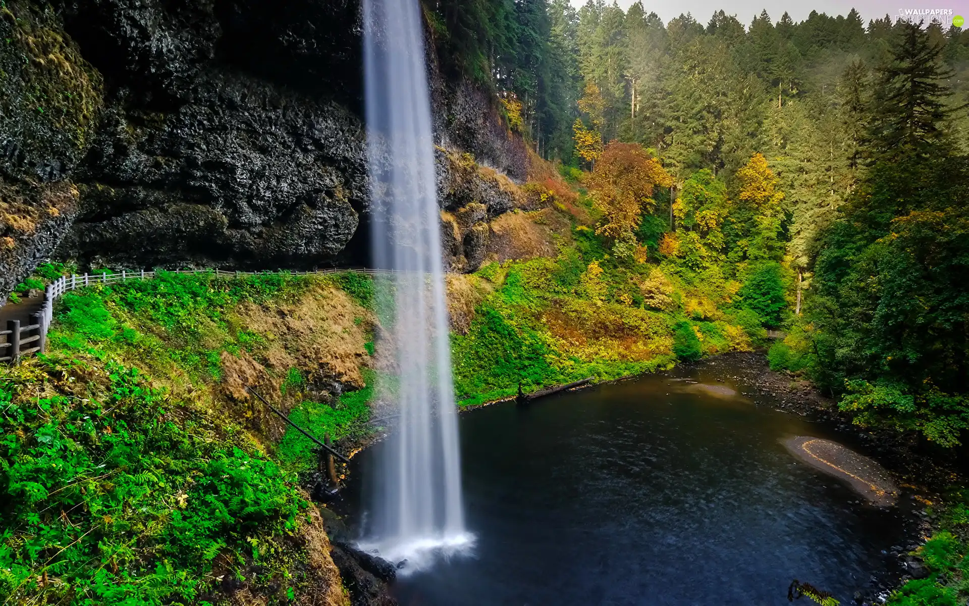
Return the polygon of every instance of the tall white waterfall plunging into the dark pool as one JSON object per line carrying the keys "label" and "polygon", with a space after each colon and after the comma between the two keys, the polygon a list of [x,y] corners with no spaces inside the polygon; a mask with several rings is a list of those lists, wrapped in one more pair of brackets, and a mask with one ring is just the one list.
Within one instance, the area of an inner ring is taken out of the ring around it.
{"label": "tall white waterfall plunging into the dark pool", "polygon": [[[399,423],[374,485],[361,545],[420,567],[470,543],[441,251],[419,0],[364,0],[366,122],[377,279],[378,393]],[[388,376],[390,374],[390,376]]]}

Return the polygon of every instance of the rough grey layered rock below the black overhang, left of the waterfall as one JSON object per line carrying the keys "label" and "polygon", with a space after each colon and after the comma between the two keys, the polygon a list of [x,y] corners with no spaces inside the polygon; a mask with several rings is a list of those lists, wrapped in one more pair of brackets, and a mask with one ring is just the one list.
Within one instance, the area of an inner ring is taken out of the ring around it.
{"label": "rough grey layered rock below the black overhang, left of the waterfall", "polygon": [[173,112],[106,112],[59,254],[150,267],[304,268],[335,259],[366,206],[359,119],[244,74],[205,72]]}

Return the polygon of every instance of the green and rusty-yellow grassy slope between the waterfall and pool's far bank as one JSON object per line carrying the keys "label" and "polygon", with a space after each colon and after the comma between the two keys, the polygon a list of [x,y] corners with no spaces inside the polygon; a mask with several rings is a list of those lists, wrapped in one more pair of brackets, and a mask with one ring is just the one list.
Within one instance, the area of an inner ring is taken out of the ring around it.
{"label": "green and rusty-yellow grassy slope between the waterfall and pool's far bank", "polygon": [[717,269],[619,260],[574,222],[555,258],[491,263],[493,286],[463,334],[453,334],[461,405],[594,376],[610,380],[677,360],[763,342],[760,320],[736,303],[740,284]]}

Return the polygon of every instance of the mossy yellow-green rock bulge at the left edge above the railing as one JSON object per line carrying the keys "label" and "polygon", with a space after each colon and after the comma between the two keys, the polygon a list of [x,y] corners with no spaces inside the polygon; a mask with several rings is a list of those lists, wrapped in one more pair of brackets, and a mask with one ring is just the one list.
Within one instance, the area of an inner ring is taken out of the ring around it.
{"label": "mossy yellow-green rock bulge at the left edge above the railing", "polygon": [[70,227],[78,190],[68,179],[101,105],[101,77],[60,18],[0,4],[0,304]]}

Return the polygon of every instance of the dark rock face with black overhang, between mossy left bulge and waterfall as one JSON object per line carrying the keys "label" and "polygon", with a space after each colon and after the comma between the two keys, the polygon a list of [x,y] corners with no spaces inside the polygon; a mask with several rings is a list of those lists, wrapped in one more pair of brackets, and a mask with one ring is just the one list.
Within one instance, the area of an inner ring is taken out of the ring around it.
{"label": "dark rock face with black overhang, between mossy left bulge and waterfall", "polygon": [[359,116],[320,92],[359,92],[334,84],[359,73],[354,3],[94,0],[64,12],[109,102],[59,256],[114,267],[337,261],[366,206],[366,147]]}

